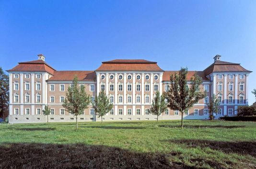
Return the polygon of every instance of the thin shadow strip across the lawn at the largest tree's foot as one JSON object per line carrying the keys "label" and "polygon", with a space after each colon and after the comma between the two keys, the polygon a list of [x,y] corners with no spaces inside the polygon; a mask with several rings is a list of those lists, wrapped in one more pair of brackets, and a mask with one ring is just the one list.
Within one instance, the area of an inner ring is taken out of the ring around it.
{"label": "thin shadow strip across the lawn at the largest tree's foot", "polygon": [[[159,127],[177,128],[180,125],[159,125]],[[184,128],[242,128],[245,126],[223,126],[223,125],[184,125]]]}

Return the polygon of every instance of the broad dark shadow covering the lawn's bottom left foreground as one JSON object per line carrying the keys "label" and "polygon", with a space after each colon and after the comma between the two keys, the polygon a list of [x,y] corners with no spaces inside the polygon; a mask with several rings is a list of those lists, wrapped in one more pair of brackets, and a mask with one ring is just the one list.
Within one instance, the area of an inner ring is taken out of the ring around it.
{"label": "broad dark shadow covering the lawn's bottom left foreground", "polygon": [[0,168],[63,169],[171,169],[186,168],[170,163],[163,153],[138,153],[104,145],[4,143],[0,145]]}

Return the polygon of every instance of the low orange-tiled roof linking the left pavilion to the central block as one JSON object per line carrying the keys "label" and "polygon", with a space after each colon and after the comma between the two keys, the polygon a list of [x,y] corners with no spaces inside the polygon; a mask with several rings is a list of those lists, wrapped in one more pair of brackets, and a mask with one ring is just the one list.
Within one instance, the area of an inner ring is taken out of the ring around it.
{"label": "low orange-tiled roof linking the left pavilion to the central block", "polygon": [[95,81],[96,73],[94,71],[55,71],[54,76],[47,81],[72,81],[74,76],[78,81]]}

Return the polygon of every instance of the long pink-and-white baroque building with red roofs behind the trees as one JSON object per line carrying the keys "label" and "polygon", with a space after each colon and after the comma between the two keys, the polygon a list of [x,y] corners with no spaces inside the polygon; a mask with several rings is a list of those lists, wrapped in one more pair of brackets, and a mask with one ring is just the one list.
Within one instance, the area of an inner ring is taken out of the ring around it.
{"label": "long pink-and-white baroque building with red roofs behind the trees", "polygon": [[[214,57],[214,63],[203,71],[188,71],[187,80],[197,74],[203,83],[201,90],[207,96],[189,110],[184,119],[208,118],[207,103],[213,94],[220,101],[216,116],[233,116],[237,106],[248,105],[248,75],[251,71],[239,63],[221,61]],[[163,93],[170,85],[170,75],[178,71],[164,71],[156,62],[146,60],[113,60],[102,62],[95,71],[57,71],[45,62],[42,54],[38,60],[21,62],[8,70],[10,75],[10,123],[46,122],[42,110],[51,109],[49,122],[72,122],[75,117],[62,104],[73,77],[85,85],[87,94],[93,98],[102,90],[109,96],[113,109],[103,117],[104,121],[155,120],[149,114],[152,99],[157,91]],[[161,120],[180,119],[177,110],[166,109]],[[98,121],[92,105],[84,110],[78,121]]]}

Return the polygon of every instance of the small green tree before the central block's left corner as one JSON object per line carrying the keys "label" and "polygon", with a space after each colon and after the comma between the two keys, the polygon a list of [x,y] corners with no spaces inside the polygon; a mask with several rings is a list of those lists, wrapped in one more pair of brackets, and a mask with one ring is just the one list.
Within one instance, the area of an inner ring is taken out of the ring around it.
{"label": "small green tree before the central block's left corner", "polygon": [[109,102],[109,99],[105,95],[104,91],[101,91],[99,96],[95,96],[93,101],[93,108],[95,115],[101,118],[102,124],[102,117],[105,116],[113,108],[113,104]]}

